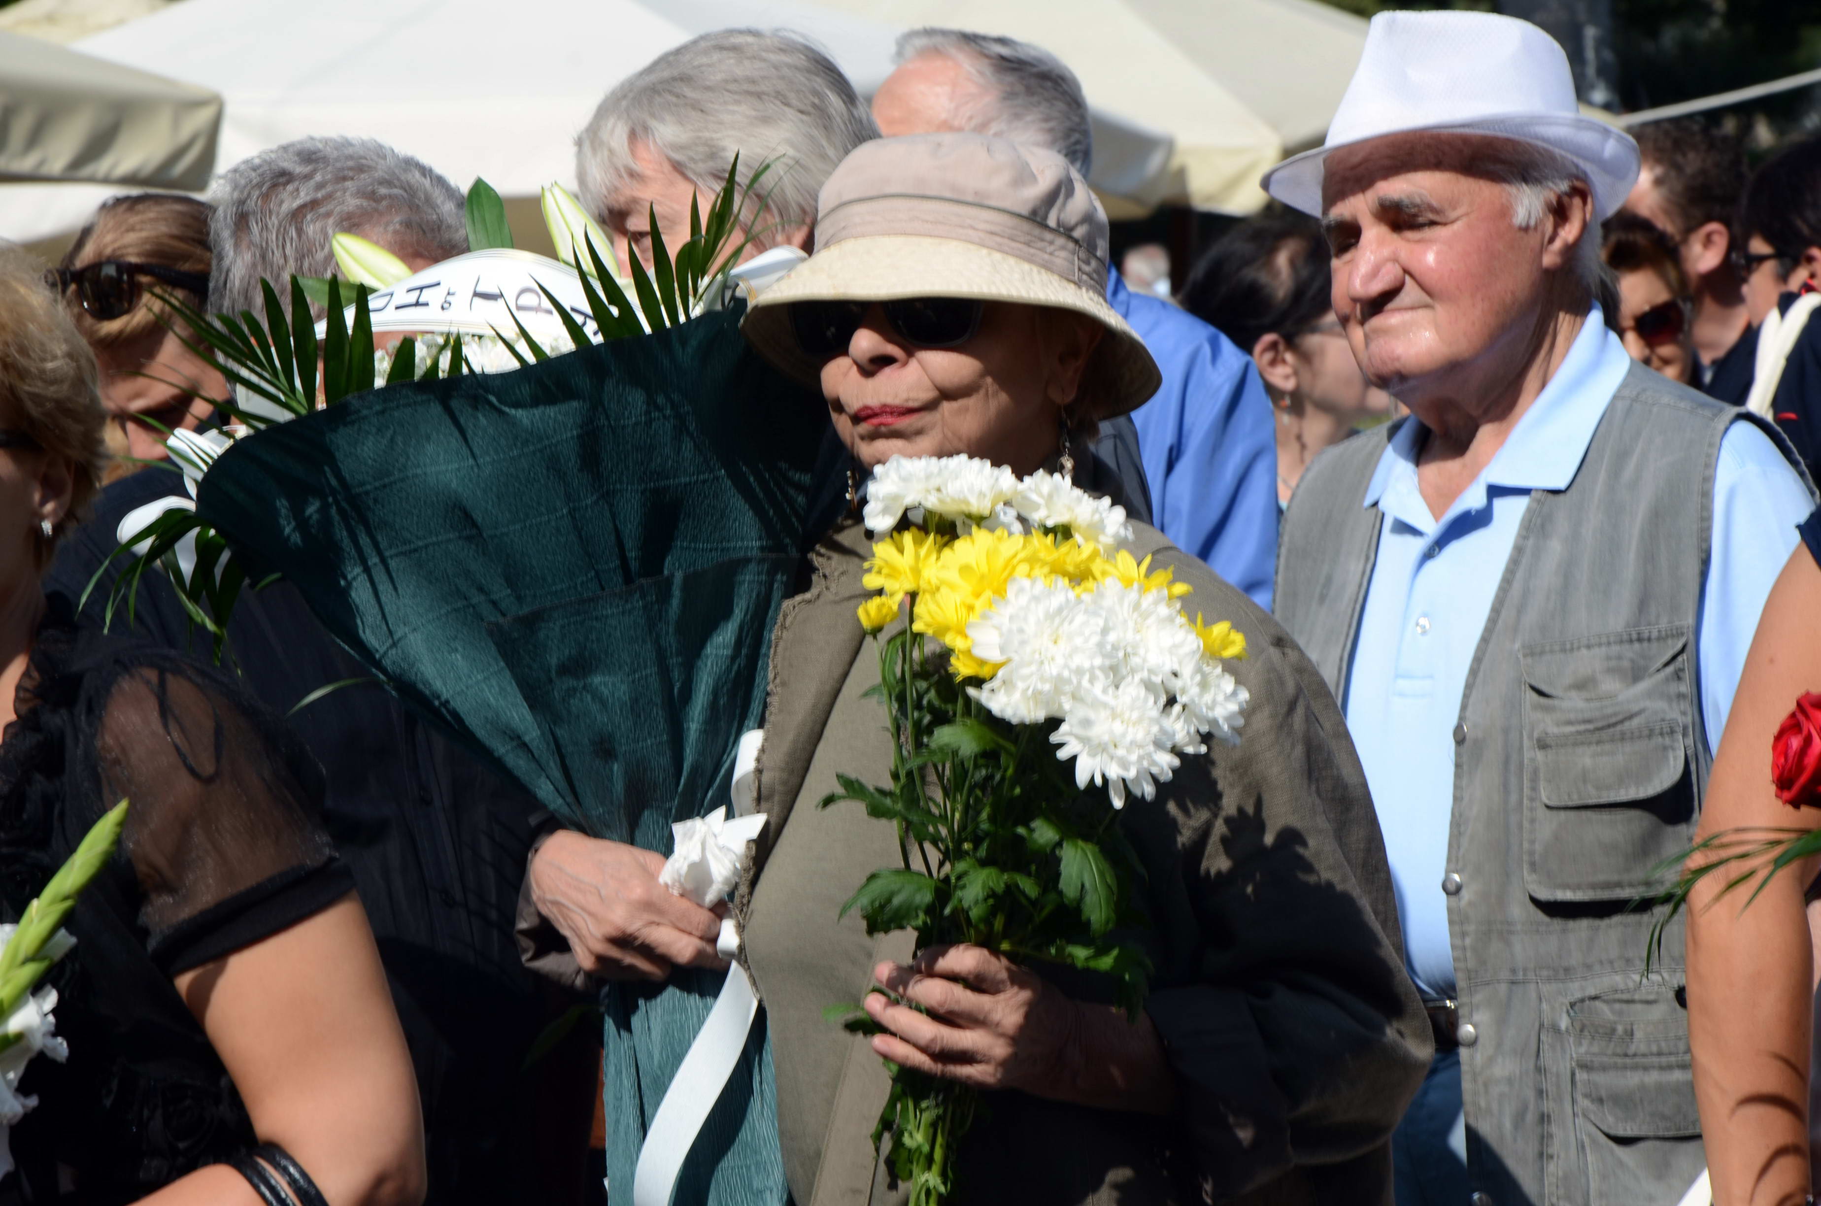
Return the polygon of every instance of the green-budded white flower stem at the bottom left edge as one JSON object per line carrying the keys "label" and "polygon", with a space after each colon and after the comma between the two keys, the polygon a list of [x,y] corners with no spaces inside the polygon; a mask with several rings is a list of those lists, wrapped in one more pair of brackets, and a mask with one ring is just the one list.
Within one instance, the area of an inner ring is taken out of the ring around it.
{"label": "green-budded white flower stem at the bottom left edge", "polygon": [[18,924],[0,925],[0,1177],[13,1171],[7,1131],[38,1104],[38,1099],[18,1091],[25,1064],[38,1053],[58,1062],[69,1057],[51,1018],[56,991],[33,989],[76,945],[64,931],[64,920],[76,907],[82,889],[107,865],[124,823],[126,800],[95,822],[76,853],[58,867],[36,900],[25,905]]}

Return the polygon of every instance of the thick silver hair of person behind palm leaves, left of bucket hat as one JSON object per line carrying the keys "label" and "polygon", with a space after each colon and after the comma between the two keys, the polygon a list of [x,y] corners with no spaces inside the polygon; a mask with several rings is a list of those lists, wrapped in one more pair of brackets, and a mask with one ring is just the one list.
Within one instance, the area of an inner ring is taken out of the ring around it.
{"label": "thick silver hair of person behind palm leaves, left of bucket hat", "polygon": [[665,51],[601,100],[575,137],[575,180],[583,208],[605,220],[614,195],[639,179],[634,140],[668,158],[703,204],[734,155],[741,184],[770,164],[748,199],[748,220],[765,200],[763,228],[750,233],[767,246],[770,230],[814,226],[823,182],[878,137],[872,111],[809,38],[721,29]]}

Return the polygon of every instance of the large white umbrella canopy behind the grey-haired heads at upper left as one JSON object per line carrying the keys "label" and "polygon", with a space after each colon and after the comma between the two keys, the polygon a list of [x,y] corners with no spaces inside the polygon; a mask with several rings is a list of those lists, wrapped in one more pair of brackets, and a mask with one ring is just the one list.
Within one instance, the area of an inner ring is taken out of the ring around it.
{"label": "large white umbrella canopy behind the grey-haired heads at upper left", "polygon": [[[728,26],[807,31],[878,78],[896,36],[767,0],[532,0],[510,15],[495,0],[184,0],[76,46],[219,91],[222,168],[306,135],[355,135],[461,188],[484,177],[510,202],[574,180],[575,133],[614,84]],[[117,191],[0,188],[0,237],[64,235]]]}

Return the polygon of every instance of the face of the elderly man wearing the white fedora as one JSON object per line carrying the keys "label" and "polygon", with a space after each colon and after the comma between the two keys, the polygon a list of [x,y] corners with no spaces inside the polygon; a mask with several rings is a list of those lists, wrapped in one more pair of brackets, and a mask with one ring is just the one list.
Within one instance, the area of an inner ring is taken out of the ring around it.
{"label": "face of the elderly man wearing the white fedora", "polygon": [[1592,217],[1584,199],[1519,230],[1504,184],[1451,168],[1470,168],[1484,142],[1400,135],[1328,160],[1335,315],[1366,377],[1411,408],[1426,395],[1471,406],[1528,364]]}

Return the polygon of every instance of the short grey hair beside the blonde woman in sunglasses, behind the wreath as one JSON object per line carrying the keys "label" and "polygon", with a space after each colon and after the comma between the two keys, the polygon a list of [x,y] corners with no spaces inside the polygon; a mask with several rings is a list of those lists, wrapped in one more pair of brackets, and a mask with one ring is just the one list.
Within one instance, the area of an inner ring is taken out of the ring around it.
{"label": "short grey hair beside the blonde woman in sunglasses, behind the wreath", "polygon": [[468,250],[461,189],[373,138],[297,138],[260,151],[224,171],[209,202],[215,313],[264,315],[260,279],[290,308],[293,273],[335,271],[330,240],[341,231],[428,261]]}

